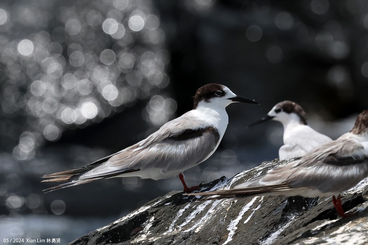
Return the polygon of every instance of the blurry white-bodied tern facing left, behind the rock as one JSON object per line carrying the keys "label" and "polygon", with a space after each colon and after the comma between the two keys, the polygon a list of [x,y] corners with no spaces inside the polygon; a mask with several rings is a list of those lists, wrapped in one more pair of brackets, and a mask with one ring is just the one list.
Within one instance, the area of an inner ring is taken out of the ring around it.
{"label": "blurry white-bodied tern facing left, behind the rock", "polygon": [[284,127],[284,145],[279,149],[280,160],[304,156],[314,147],[332,141],[307,124],[307,113],[296,102],[285,100],[277,103],[266,116],[249,126],[269,120],[279,121]]}

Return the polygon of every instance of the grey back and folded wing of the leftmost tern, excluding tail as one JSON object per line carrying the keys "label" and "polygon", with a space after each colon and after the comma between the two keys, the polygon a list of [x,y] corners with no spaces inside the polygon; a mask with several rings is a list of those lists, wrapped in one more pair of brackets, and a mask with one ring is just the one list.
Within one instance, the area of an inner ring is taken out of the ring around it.
{"label": "grey back and folded wing of the leftmost tern, excluding tail", "polygon": [[114,154],[106,162],[76,177],[100,177],[130,169],[184,171],[201,163],[216,149],[220,140],[219,133],[188,114],[164,124],[145,140]]}

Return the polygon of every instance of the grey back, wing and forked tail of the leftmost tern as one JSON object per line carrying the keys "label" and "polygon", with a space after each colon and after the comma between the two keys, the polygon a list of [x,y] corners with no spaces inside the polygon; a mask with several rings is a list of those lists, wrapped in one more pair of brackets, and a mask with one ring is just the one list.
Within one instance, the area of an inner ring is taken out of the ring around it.
{"label": "grey back, wing and forked tail of the leftmost tern", "polygon": [[[43,177],[49,179],[42,182],[70,181],[46,189],[53,191],[125,174],[162,179],[167,177],[167,172],[182,172],[203,162],[215,151],[219,141],[216,129],[187,112],[131,147],[79,169],[48,174]],[[152,174],[151,169],[159,171]],[[162,174],[158,175],[159,172]]]}

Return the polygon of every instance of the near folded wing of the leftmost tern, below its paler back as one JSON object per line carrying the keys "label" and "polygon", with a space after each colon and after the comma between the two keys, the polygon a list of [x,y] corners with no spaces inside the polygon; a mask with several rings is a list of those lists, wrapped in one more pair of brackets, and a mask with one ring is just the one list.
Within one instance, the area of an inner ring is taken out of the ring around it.
{"label": "near folded wing of the leftmost tern, below its paler back", "polygon": [[216,149],[219,134],[212,128],[188,130],[136,151],[112,156],[78,179],[100,177],[127,169],[159,169],[162,173],[184,171],[204,161]]}

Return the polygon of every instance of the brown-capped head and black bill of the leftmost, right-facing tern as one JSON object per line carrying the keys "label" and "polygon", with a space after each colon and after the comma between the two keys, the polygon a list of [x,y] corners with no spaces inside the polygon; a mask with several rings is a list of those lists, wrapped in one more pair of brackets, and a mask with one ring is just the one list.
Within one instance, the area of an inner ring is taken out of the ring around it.
{"label": "brown-capped head and black bill of the leftmost, right-facing tern", "polygon": [[250,100],[242,96],[237,96],[224,85],[209,83],[205,86],[200,87],[195,93],[193,109],[196,109],[198,106],[217,106],[220,108],[225,108],[234,102],[258,104],[254,100]]}

